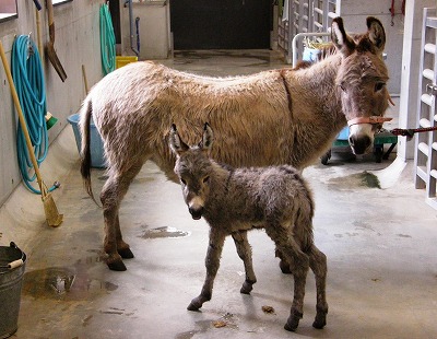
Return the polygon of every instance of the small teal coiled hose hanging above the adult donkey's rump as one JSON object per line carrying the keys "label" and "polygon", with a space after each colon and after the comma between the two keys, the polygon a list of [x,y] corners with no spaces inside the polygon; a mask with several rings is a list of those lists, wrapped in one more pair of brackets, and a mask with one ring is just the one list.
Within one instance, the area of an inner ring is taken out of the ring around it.
{"label": "small teal coiled hose hanging above the adult donkey's rump", "polygon": [[99,14],[102,70],[106,75],[116,69],[116,35],[108,4],[102,4]]}

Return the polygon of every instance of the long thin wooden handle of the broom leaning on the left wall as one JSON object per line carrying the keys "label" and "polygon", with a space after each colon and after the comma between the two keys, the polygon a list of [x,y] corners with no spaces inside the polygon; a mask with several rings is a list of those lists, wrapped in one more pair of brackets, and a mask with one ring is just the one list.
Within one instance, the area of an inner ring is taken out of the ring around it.
{"label": "long thin wooden handle of the broom leaning on the left wall", "polygon": [[27,150],[28,150],[28,153],[31,155],[32,164],[34,165],[34,170],[35,170],[36,178],[37,178],[37,182],[38,182],[38,185],[39,185],[39,189],[42,191],[42,196],[45,197],[47,195],[47,189],[43,185],[43,179],[42,179],[42,176],[40,176],[38,163],[36,162],[34,148],[32,145],[31,137],[28,136],[26,120],[24,119],[23,110],[21,109],[19,95],[16,94],[15,85],[14,85],[13,80],[12,80],[11,70],[9,68],[7,56],[5,56],[4,49],[3,49],[3,44],[1,43],[1,40],[0,40],[0,56],[1,56],[1,61],[3,62],[4,71],[7,73],[9,86],[11,87],[12,98],[14,101],[16,112],[19,113],[19,119],[20,119],[21,129],[23,130],[24,138],[26,139]]}

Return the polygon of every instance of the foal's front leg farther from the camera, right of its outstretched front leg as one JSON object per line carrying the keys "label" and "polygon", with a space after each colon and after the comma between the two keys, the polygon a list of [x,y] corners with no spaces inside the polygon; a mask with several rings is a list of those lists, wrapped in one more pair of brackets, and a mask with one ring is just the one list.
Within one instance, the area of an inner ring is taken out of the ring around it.
{"label": "foal's front leg farther from the camera, right of its outstretched front leg", "polygon": [[247,231],[234,232],[232,236],[234,238],[235,246],[237,247],[238,256],[241,258],[245,265],[246,271],[246,280],[243,283],[241,290],[239,291],[244,294],[250,294],[252,284],[257,282],[257,277],[253,272],[252,249],[247,238]]}

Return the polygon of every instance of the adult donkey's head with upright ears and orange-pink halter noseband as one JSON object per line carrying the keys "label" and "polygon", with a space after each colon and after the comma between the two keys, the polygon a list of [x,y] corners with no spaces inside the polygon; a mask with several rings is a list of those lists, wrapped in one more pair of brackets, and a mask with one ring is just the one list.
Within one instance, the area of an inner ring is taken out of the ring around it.
{"label": "adult donkey's head with upright ears and orange-pink halter noseband", "polygon": [[367,33],[354,38],[349,36],[343,20],[332,22],[331,37],[342,55],[335,80],[339,87],[343,113],[350,126],[349,142],[355,154],[371,150],[375,131],[380,129],[388,107],[389,79],[382,60],[386,33],[381,22],[367,17]]}

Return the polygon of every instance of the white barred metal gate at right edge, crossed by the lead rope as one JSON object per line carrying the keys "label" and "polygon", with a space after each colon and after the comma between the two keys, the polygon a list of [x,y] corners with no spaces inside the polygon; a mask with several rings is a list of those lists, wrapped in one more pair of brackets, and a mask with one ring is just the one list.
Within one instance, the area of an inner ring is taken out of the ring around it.
{"label": "white barred metal gate at right edge, crossed by the lead rope", "polygon": [[[424,9],[417,103],[420,127],[437,126],[437,11]],[[426,190],[426,201],[437,209],[437,131],[418,132],[415,139],[415,187]]]}

